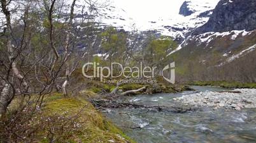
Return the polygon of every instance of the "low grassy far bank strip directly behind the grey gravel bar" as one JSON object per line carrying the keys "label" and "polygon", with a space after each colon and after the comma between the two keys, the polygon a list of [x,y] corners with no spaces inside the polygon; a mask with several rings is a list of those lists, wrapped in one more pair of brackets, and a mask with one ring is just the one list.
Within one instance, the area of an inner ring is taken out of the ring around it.
{"label": "low grassy far bank strip directly behind the grey gravel bar", "polygon": [[225,82],[225,81],[196,81],[188,82],[188,85],[197,85],[197,86],[219,86],[225,88],[234,88],[234,89],[256,89],[256,83],[241,83],[241,82]]}

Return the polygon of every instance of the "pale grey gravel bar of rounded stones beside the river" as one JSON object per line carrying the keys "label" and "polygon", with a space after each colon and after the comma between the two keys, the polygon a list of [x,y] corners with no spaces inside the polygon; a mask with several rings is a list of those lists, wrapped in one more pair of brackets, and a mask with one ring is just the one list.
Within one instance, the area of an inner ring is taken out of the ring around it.
{"label": "pale grey gravel bar of rounded stones beside the river", "polygon": [[199,92],[174,98],[174,101],[196,107],[225,108],[241,111],[256,108],[256,89],[235,89],[223,92]]}

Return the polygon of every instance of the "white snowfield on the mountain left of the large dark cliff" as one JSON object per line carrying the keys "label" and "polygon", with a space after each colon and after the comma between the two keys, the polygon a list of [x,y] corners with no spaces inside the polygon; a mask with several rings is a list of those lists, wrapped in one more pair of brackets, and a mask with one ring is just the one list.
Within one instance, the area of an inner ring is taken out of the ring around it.
{"label": "white snowfield on the mountain left of the large dark cliff", "polygon": [[[184,16],[178,9],[173,12],[170,6],[170,9],[166,9],[165,13],[159,13],[159,17],[153,16],[152,19],[148,21],[133,18],[127,11],[125,11],[125,8],[111,6],[110,8],[103,9],[101,11],[103,15],[97,17],[97,20],[103,24],[113,25],[114,27],[123,28],[127,31],[134,29],[140,31],[154,30],[159,34],[169,35],[174,38],[177,35],[184,37],[185,33],[189,32],[192,28],[200,27],[208,22],[212,10],[217,5],[218,1],[219,0],[184,1],[183,5],[187,4],[187,6],[180,9],[180,11],[187,8],[192,11],[190,15]],[[157,13],[157,9],[159,8],[153,9],[156,11],[155,13]],[[141,8],[141,11],[143,11],[143,8]]]}

